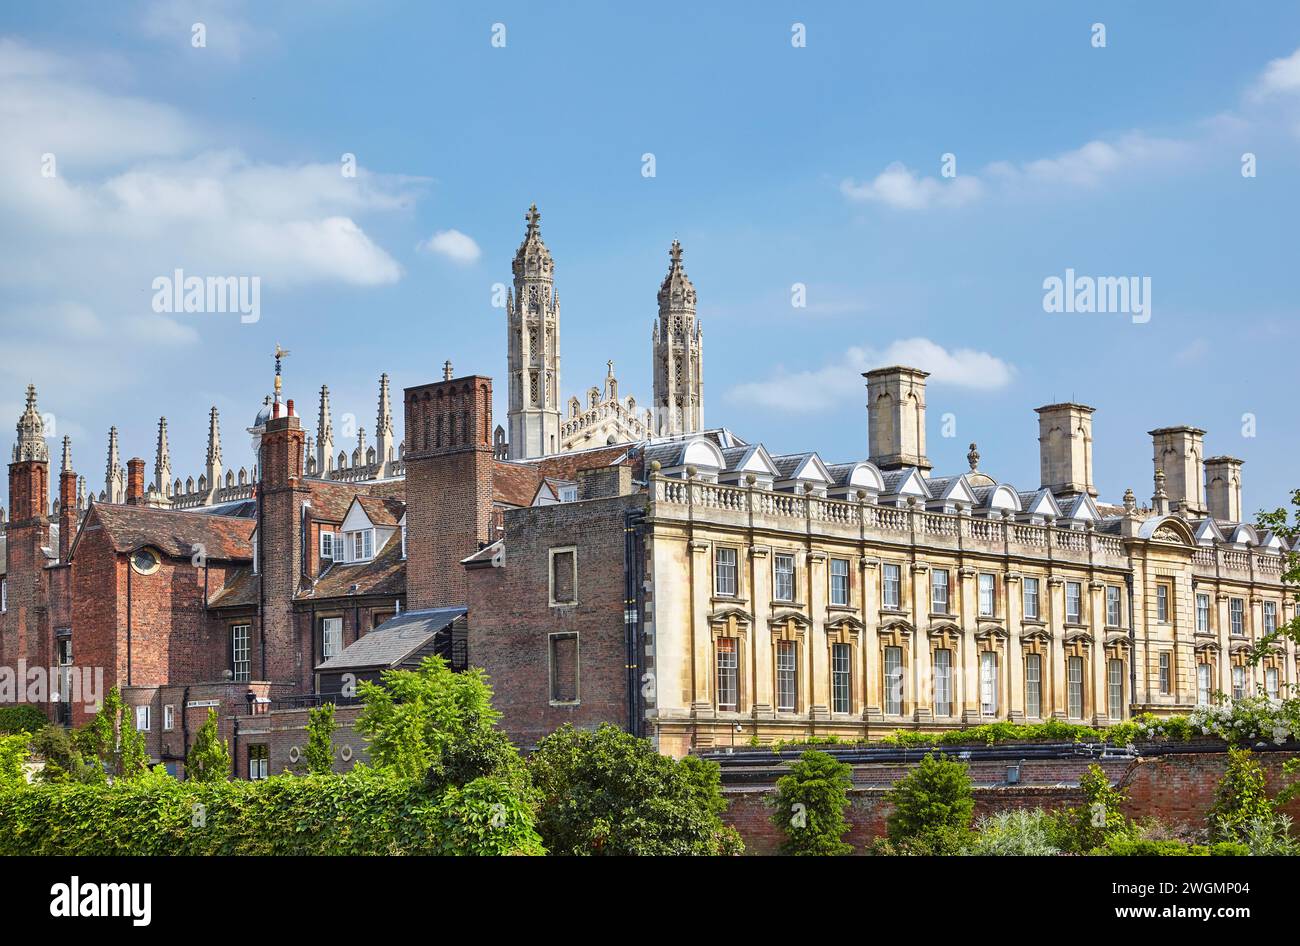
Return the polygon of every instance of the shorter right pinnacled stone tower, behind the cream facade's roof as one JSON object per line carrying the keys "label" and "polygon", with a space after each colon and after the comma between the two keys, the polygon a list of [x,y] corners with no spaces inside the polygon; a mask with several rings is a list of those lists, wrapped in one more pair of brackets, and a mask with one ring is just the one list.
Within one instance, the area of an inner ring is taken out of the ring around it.
{"label": "shorter right pinnacled stone tower, behind the cream facade's roof", "polygon": [[681,243],[668,251],[654,324],[654,435],[705,428],[703,333],[696,321],[696,287],[681,265]]}

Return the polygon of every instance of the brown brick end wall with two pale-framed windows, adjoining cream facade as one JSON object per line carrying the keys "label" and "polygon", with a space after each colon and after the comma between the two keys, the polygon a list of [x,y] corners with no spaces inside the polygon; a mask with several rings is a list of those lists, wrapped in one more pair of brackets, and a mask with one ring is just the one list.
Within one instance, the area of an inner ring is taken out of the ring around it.
{"label": "brown brick end wall with two pale-framed windows, adjoining cream facade", "polygon": [[[623,622],[624,515],[645,498],[615,496],[506,513],[500,568],[469,578],[469,663],[495,687],[502,728],[529,746],[566,722],[627,726]],[[550,603],[550,550],[577,548],[576,603]],[[551,700],[550,638],[577,634],[578,699]]]}

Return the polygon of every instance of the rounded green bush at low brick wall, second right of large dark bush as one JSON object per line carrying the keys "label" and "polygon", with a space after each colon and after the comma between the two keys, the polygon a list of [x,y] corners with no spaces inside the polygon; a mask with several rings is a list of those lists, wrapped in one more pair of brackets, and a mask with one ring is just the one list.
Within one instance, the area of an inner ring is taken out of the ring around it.
{"label": "rounded green bush at low brick wall, second right of large dark bush", "polygon": [[970,838],[975,798],[970,769],[931,752],[885,793],[893,806],[885,820],[889,841],[919,854],[956,854]]}

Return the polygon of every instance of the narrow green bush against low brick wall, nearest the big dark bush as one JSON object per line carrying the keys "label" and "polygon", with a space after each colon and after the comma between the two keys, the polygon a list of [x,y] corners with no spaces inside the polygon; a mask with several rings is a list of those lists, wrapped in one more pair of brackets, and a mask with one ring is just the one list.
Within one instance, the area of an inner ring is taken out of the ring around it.
{"label": "narrow green bush against low brick wall, nearest the big dark bush", "polygon": [[852,854],[841,838],[849,830],[844,810],[849,807],[853,768],[829,752],[807,750],[790,764],[789,774],[776,780],[776,811],[772,824],[781,829],[783,854]]}

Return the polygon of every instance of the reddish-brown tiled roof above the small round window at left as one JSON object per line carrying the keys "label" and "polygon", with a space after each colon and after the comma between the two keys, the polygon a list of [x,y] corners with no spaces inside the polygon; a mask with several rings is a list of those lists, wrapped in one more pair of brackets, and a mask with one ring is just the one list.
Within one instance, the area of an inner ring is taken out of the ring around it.
{"label": "reddish-brown tiled roof above the small round window at left", "polygon": [[86,522],[91,517],[104,528],[117,552],[152,546],[173,559],[188,559],[194,547],[202,544],[216,561],[252,560],[256,522],[251,518],[112,503],[95,503]]}

